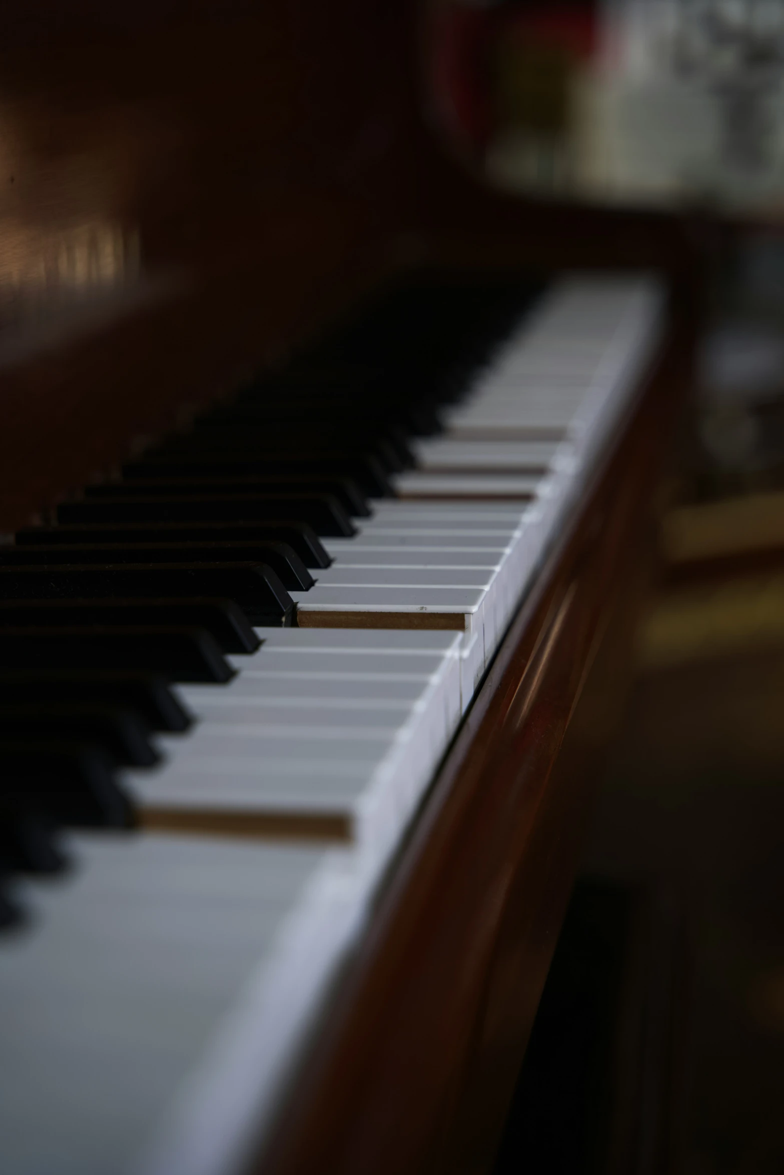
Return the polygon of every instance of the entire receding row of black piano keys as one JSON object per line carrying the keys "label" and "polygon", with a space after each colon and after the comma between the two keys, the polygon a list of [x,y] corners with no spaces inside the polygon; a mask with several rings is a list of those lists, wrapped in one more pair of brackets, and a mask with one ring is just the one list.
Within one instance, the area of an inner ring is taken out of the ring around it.
{"label": "entire receding row of black piano keys", "polygon": [[253,624],[292,623],[320,537],[391,494],[512,306],[396,294],[0,548],[0,873],[60,867],[62,825],[133,821],[116,767],[189,721],[168,683],[226,682]]}

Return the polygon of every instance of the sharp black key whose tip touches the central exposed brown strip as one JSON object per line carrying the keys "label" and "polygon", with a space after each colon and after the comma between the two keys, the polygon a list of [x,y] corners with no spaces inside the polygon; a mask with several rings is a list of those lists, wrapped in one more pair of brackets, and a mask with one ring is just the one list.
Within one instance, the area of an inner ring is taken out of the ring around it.
{"label": "sharp black key whose tip touches the central exposed brown strip", "polygon": [[0,566],[0,599],[232,599],[253,624],[290,624],[292,597],[263,563]]}

